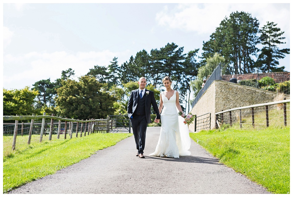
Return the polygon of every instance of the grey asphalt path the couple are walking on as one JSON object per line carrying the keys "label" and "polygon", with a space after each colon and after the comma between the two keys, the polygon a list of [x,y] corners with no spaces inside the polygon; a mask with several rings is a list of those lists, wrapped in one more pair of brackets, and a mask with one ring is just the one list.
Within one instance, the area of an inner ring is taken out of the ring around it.
{"label": "grey asphalt path the couple are walking on", "polygon": [[160,158],[160,127],[146,131],[146,158],[136,157],[134,136],[9,194],[269,194],[218,162],[192,140],[191,156]]}

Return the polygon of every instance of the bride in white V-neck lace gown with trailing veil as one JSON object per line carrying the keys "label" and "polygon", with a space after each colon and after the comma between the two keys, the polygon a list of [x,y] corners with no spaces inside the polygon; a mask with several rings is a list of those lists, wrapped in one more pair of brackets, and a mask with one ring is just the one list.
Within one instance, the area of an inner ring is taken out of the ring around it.
{"label": "bride in white V-neck lace gown with trailing veil", "polygon": [[174,158],[191,155],[188,151],[191,144],[188,126],[183,123],[184,118],[178,116],[179,111],[183,113],[179,104],[179,93],[171,89],[170,77],[165,77],[162,81],[166,87],[166,91],[160,94],[159,112],[162,126],[156,150],[150,155]]}

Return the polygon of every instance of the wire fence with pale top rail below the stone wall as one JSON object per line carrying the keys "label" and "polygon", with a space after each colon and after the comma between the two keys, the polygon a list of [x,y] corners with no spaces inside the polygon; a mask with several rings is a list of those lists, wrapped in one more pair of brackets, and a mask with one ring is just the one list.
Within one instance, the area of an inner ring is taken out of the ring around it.
{"label": "wire fence with pale top rail below the stone wall", "polygon": [[264,129],[290,127],[290,100],[244,106],[217,112],[216,128]]}

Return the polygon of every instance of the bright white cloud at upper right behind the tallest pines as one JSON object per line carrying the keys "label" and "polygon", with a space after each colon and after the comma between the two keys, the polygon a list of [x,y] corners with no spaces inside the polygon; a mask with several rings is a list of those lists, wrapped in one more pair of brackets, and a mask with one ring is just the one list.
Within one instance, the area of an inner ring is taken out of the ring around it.
{"label": "bright white cloud at upper right behind the tallest pines", "polygon": [[286,37],[290,35],[290,4],[272,3],[204,3],[179,4],[174,10],[167,6],[156,15],[159,25],[171,29],[195,31],[198,34],[212,34],[225,17],[232,12],[247,12],[258,19],[260,27],[266,21],[275,22]]}

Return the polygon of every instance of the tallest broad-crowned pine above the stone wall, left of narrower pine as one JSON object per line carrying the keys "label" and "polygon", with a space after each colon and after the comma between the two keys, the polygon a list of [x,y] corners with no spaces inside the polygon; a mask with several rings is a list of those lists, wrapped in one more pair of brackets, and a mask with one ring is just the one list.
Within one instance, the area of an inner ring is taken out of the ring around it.
{"label": "tallest broad-crowned pine above the stone wall, left of narrower pine", "polygon": [[212,57],[216,52],[222,54],[225,63],[231,65],[234,74],[251,73],[255,70],[254,59],[259,43],[259,22],[245,12],[233,12],[225,19],[203,44],[203,59]]}

